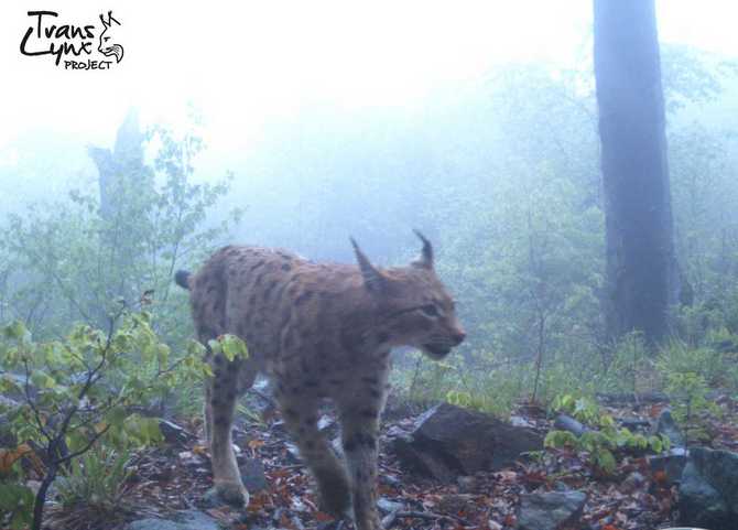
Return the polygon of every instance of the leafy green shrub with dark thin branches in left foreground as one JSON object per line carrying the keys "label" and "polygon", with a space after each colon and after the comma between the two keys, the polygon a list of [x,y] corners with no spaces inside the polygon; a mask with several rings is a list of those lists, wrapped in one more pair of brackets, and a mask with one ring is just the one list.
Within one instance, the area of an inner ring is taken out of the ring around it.
{"label": "leafy green shrub with dark thin branches in left foreground", "polygon": [[[8,417],[11,431],[44,450],[42,485],[72,465],[64,490],[68,499],[96,494],[104,504],[115,500],[128,450],[162,440],[158,420],[133,408],[210,374],[202,346],[172,361],[146,312],[120,309],[106,332],[79,324],[64,340],[34,342],[21,323],[0,328],[0,392],[22,400]],[[94,448],[97,453],[89,454]],[[78,457],[83,461],[75,464]],[[36,505],[44,495],[42,487]],[[18,517],[29,517],[24,513]]]}

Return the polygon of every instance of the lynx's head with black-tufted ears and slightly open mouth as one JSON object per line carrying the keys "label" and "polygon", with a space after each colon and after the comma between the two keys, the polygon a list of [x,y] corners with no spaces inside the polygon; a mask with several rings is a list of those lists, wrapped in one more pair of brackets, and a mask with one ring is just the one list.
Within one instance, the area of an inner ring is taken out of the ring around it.
{"label": "lynx's head with black-tufted ears and slightly open mouth", "polygon": [[376,332],[389,346],[412,346],[434,360],[462,344],[466,334],[456,318],[454,300],[436,275],[433,247],[423,242],[421,257],[408,267],[379,269],[371,264],[354,239],[363,286],[376,306]]}

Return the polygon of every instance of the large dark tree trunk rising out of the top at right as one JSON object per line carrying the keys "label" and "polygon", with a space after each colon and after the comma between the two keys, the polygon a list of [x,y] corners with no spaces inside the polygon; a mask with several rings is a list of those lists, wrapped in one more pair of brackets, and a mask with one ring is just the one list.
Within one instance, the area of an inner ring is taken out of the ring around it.
{"label": "large dark tree trunk rising out of the top at right", "polygon": [[608,331],[639,329],[653,344],[680,291],[654,0],[594,6]]}

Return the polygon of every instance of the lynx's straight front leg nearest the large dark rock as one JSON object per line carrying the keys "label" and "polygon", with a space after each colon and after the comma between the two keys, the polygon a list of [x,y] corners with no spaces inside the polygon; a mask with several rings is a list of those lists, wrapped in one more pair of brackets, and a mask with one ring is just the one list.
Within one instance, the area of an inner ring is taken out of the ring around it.
{"label": "lynx's straight front leg nearest the large dark rock", "polygon": [[351,502],[358,530],[382,528],[377,512],[377,455],[386,382],[386,374],[362,377],[358,396],[339,405],[341,443],[351,479]]}

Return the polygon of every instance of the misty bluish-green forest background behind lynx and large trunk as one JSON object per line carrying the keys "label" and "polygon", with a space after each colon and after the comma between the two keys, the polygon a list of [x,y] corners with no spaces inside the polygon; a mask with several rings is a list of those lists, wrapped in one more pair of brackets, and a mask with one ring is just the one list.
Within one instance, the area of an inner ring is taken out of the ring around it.
{"label": "misty bluish-green forest background behind lynx and large trunk", "polygon": [[545,402],[564,389],[662,388],[660,359],[735,387],[738,113],[727,109],[738,105],[736,63],[661,47],[685,289],[654,349],[606,328],[590,46],[576,69],[509,64],[414,109],[312,108],[272,123],[246,155],[219,161],[219,174],[197,171],[207,145],[195,110],[176,131],[141,131],[133,110],[112,149],[19,139],[18,165],[0,170],[0,322],[59,338],[78,322],[105,326],[119,299],[131,304],[146,292],[154,327],[176,355],[193,331],[173,271],[196,269],[219,246],[350,262],[352,235],[390,266],[415,255],[417,227],[437,248],[468,339],[441,365],[399,355],[409,372],[398,391],[441,399],[458,390],[503,412],[533,392]]}

